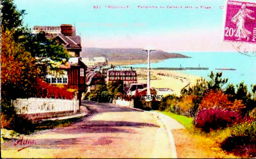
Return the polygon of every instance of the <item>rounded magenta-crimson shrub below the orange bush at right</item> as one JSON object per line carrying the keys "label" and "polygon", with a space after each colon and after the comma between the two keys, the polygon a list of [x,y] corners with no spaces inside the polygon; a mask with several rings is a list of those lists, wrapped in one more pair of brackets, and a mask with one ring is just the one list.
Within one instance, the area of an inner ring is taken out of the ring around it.
{"label": "rounded magenta-crimson shrub below the orange bush at right", "polygon": [[239,123],[241,118],[241,114],[237,111],[204,109],[197,112],[195,126],[209,132],[210,129],[216,130]]}

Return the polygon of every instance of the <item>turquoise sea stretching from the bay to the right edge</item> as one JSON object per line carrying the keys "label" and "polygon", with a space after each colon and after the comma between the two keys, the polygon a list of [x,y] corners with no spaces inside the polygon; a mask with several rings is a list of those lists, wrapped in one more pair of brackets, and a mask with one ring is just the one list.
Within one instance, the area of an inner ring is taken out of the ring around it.
{"label": "turquoise sea stretching from the bay to the right edge", "polygon": [[[191,58],[171,58],[158,63],[151,63],[150,67],[206,67],[209,69],[177,70],[177,72],[202,76],[207,80],[210,80],[208,75],[211,71],[214,73],[222,72],[222,77],[228,78],[227,83],[236,85],[244,82],[249,91],[251,91],[250,85],[256,84],[256,56],[242,55],[237,52],[182,52],[181,54]],[[147,67],[147,64],[133,64],[129,67]],[[215,68],[236,70],[216,70]]]}

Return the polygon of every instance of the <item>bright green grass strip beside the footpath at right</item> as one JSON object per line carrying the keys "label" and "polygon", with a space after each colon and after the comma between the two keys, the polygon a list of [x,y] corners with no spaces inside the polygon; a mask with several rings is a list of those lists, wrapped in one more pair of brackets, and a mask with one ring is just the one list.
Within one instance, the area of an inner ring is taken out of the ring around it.
{"label": "bright green grass strip beside the footpath at right", "polygon": [[193,118],[192,117],[186,117],[183,115],[177,115],[172,112],[166,112],[166,111],[158,111],[165,115],[170,116],[171,118],[174,118],[177,120],[180,124],[182,124],[187,130],[192,131],[193,128]]}

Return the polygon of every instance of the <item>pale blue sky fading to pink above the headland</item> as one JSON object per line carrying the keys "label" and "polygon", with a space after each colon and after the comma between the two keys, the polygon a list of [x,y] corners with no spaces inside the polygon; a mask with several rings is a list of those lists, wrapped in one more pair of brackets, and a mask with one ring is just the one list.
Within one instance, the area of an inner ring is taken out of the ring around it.
{"label": "pale blue sky fading to pink above the headland", "polygon": [[14,3],[19,10],[26,10],[24,24],[30,28],[75,25],[82,47],[235,51],[231,43],[221,42],[224,0],[14,0]]}

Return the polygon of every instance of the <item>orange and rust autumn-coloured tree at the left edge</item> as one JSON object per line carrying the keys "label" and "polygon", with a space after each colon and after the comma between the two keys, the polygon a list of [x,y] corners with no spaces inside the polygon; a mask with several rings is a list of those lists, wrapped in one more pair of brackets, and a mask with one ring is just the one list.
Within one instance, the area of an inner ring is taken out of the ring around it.
{"label": "orange and rust autumn-coloured tree at the left edge", "polygon": [[7,105],[10,100],[32,96],[36,79],[46,74],[40,70],[44,65],[15,42],[13,34],[9,30],[1,32],[1,102]]}

